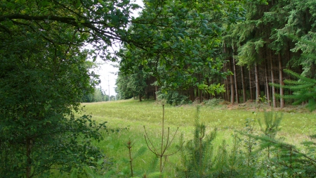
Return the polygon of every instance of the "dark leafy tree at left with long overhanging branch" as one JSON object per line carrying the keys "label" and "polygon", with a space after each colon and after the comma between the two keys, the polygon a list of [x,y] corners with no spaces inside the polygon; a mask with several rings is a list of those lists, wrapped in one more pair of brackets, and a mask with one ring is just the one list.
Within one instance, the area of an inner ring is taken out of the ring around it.
{"label": "dark leafy tree at left with long overhanging branch", "polygon": [[[49,170],[95,165],[101,139],[79,101],[98,76],[89,57],[131,42],[130,1],[1,1],[0,177],[44,177]],[[86,50],[91,44],[96,51]]]}

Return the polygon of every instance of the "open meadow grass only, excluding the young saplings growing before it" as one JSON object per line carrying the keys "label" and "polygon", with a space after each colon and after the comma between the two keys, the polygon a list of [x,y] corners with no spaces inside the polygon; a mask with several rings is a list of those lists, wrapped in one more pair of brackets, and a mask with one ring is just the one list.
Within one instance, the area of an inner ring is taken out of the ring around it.
{"label": "open meadow grass only, excluding the young saplings growing before it", "polygon": [[[154,146],[158,149],[161,145],[162,134],[162,104],[155,101],[112,101],[101,103],[82,103],[84,112],[89,114],[97,122],[107,121],[107,131],[102,131],[104,140],[95,143],[103,149],[106,158],[105,170],[98,172],[107,177],[130,177],[130,158],[127,143],[131,141],[131,154],[133,157],[134,176],[143,177],[143,174],[154,175],[159,172],[157,157],[147,148],[144,137],[144,126]],[[180,134],[185,140],[192,139],[197,106],[195,104],[185,106],[165,106],[165,136],[167,127],[170,127],[170,138],[178,128],[176,138],[166,153],[176,151],[179,145]],[[268,108],[267,108],[268,109]],[[310,113],[303,108],[288,108],[276,111],[282,114],[281,130],[277,138],[299,147],[300,143],[309,139],[309,135],[316,133],[315,113]],[[264,116],[263,109],[248,105],[237,108],[230,106],[207,106],[200,108],[200,122],[206,125],[207,132],[214,128],[218,129],[218,135],[214,146],[220,145],[223,139],[230,145],[232,134],[235,130],[240,131],[245,127],[246,118],[259,119]],[[254,130],[260,132],[256,123]],[[166,139],[165,139],[166,141]],[[153,148],[152,148],[153,149]],[[180,165],[179,155],[171,155],[166,159],[164,177],[177,177],[176,166]],[[110,175],[112,174],[112,176]],[[149,176],[148,176],[149,175]]]}

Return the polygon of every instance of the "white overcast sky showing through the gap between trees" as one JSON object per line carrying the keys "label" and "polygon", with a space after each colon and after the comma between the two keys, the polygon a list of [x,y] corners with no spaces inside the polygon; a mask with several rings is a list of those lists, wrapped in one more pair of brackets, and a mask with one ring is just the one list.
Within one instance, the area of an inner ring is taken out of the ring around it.
{"label": "white overcast sky showing through the gap between trees", "polygon": [[[139,4],[140,6],[143,6],[143,0],[136,0],[136,4]],[[138,11],[133,13],[135,16],[138,15]],[[96,70],[94,70],[98,75],[100,75],[100,87],[106,92],[106,94],[109,94],[109,87],[110,87],[110,96],[115,96],[115,90],[114,88],[117,87],[115,85],[117,80],[117,72],[119,72],[118,68],[114,68],[113,64],[118,63],[112,63],[112,62],[105,62],[102,61],[100,58],[97,59],[97,63],[100,63],[100,67]]]}

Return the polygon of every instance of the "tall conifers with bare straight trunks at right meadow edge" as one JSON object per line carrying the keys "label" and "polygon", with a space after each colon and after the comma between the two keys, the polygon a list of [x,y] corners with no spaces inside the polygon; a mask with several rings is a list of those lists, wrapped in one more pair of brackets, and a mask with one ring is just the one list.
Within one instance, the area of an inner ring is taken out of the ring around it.
{"label": "tall conifers with bare straight trunks at right meadow edge", "polygon": [[314,47],[302,42],[315,42],[315,5],[315,1],[285,0],[244,4],[244,23],[233,25],[224,40],[230,56],[226,65],[235,76],[225,80],[230,90],[224,96],[227,100],[258,102],[265,96],[270,105],[283,108],[284,98],[276,96],[291,94],[291,90],[276,89],[269,83],[282,86],[284,80],[291,79],[284,69],[315,78],[315,59],[310,58]]}

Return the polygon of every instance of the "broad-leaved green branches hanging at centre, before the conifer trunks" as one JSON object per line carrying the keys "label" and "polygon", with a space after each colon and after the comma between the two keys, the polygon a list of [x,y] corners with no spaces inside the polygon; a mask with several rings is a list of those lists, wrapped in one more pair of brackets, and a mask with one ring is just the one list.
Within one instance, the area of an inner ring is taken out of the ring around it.
{"label": "broad-leaved green branches hanging at centre, before the conifer trunks", "polygon": [[[134,67],[155,77],[162,91],[187,94],[199,84],[210,85],[221,71],[221,37],[231,23],[242,20],[237,1],[144,1],[133,20],[131,37],[141,43],[125,44],[119,51],[121,75]],[[216,83],[218,84],[218,83]],[[213,85],[217,86],[217,85]],[[222,89],[223,91],[223,89]]]}

